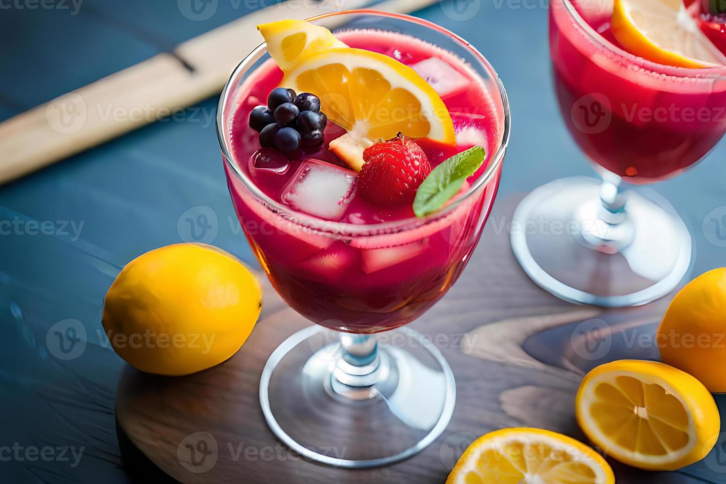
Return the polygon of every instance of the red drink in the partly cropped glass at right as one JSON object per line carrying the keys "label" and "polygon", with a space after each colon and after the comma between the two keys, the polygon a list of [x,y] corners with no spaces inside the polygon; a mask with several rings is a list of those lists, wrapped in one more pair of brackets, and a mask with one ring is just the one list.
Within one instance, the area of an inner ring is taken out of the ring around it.
{"label": "red drink in the partly cropped glass at right", "polygon": [[605,2],[564,1],[550,9],[550,54],[563,119],[587,156],[635,184],[701,160],[726,132],[725,71],[629,55],[613,36]]}

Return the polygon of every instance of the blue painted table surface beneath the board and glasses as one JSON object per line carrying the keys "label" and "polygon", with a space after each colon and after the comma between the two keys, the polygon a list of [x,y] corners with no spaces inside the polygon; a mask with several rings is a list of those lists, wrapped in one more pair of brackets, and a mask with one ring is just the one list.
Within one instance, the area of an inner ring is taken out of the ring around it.
{"label": "blue painted table surface beneath the board and glasses", "polygon": [[[182,14],[189,1],[0,0],[0,120],[274,3],[211,0],[216,10],[207,20],[189,20]],[[505,83],[513,133],[499,198],[592,174],[555,103],[548,2],[454,1],[462,2],[460,17],[450,0],[415,15],[467,38]],[[211,222],[205,242],[256,264],[229,200],[215,111],[216,99],[208,99],[183,119],[144,127],[0,188],[0,221],[12,223],[0,227],[1,482],[129,481],[114,426],[124,363],[99,333],[102,299],[125,263],[190,240],[186,220],[203,213]],[[726,234],[726,219],[722,226],[711,221],[726,213],[725,155],[722,142],[696,168],[654,186],[693,234],[694,275],[726,265],[717,238]],[[64,361],[51,328],[66,319],[80,321],[87,344],[81,357]],[[3,446],[84,450],[80,463],[70,451],[68,460],[7,460]],[[700,478],[680,475],[678,482],[726,482],[703,466],[688,474]]]}

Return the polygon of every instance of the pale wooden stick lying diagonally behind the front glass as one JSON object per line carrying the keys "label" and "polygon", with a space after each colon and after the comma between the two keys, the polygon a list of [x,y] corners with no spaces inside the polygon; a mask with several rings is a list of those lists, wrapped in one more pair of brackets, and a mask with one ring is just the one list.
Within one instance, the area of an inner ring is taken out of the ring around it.
{"label": "pale wooden stick lying diagonally behind the front glass", "polygon": [[[375,7],[412,12],[435,1],[388,0]],[[344,7],[369,4],[346,0]],[[331,2],[311,0],[266,7],[180,44],[176,57],[155,55],[0,123],[0,184],[219,93],[240,60],[261,44],[256,25],[321,15],[332,7]]]}

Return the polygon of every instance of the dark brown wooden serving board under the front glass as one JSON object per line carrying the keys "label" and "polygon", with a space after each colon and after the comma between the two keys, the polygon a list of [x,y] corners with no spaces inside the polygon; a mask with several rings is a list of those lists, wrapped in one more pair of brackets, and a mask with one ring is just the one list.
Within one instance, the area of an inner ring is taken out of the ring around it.
{"label": "dark brown wooden serving board under the front glass", "polygon": [[[652,334],[671,297],[605,311],[539,289],[510,250],[506,224],[520,199],[497,203],[461,279],[412,323],[419,332],[448,337],[441,351],[457,380],[452,421],[420,454],[388,467],[346,470],[301,459],[277,441],[258,402],[262,367],[277,345],[309,322],[267,285],[261,319],[229,361],[187,377],[155,377],[131,367],[123,372],[116,417],[128,469],[190,483],[443,483],[468,444],[492,430],[542,427],[585,440],[574,419],[582,375],[613,359],[657,357],[652,346],[633,344],[632,335]],[[602,330],[603,345],[587,340],[593,324]],[[177,449],[208,435],[216,442],[216,462],[190,472]],[[611,464],[618,483],[726,482],[726,465],[718,462],[658,473]]]}

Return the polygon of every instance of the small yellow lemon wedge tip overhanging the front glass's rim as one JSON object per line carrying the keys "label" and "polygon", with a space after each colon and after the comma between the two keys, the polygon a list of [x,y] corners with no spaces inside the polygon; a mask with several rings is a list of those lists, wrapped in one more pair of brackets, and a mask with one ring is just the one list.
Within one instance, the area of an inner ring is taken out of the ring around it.
{"label": "small yellow lemon wedge tip overhanging the front glass's rim", "polygon": [[282,70],[295,67],[302,57],[332,47],[347,47],[330,30],[305,20],[279,20],[257,26],[267,52]]}

